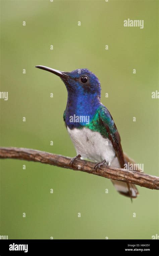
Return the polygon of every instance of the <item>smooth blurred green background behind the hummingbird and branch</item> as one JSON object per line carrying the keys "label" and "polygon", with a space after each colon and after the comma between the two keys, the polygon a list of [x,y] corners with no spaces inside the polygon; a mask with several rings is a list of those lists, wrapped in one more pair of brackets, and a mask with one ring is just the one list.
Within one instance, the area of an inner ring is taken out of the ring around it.
{"label": "smooth blurred green background behind the hummingbird and branch", "polygon": [[[100,79],[101,101],[113,116],[124,152],[158,176],[159,108],[151,98],[159,89],[157,9],[152,0],[1,0],[1,91],[8,91],[8,101],[0,99],[1,146],[75,156],[62,118],[65,86],[35,65],[88,68]],[[123,27],[128,18],[144,20],[144,29]],[[9,239],[159,234],[157,190],[138,187],[140,196],[131,204],[102,177],[21,160],[0,160],[0,166],[0,235]]]}

